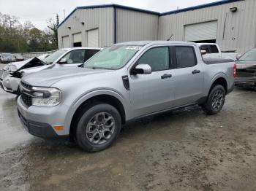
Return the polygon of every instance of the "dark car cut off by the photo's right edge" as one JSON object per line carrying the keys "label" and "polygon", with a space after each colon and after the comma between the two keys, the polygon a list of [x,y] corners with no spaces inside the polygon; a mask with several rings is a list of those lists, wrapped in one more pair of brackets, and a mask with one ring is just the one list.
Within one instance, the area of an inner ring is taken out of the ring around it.
{"label": "dark car cut off by the photo's right edge", "polygon": [[244,53],[236,61],[237,77],[235,84],[256,87],[256,48]]}

